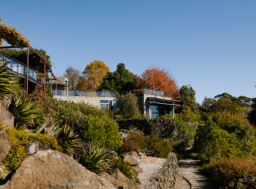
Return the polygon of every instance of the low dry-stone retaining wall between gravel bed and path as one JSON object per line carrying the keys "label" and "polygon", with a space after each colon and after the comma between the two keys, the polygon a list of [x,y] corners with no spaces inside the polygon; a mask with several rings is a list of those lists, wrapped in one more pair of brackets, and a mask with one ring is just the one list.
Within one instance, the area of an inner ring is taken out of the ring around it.
{"label": "low dry-stone retaining wall between gravel bed and path", "polygon": [[158,170],[158,172],[150,177],[149,180],[154,182],[150,186],[138,185],[139,189],[165,189],[165,188],[175,188],[176,183],[179,180],[179,167],[178,160],[175,153],[171,152],[168,154],[167,161],[162,165],[163,168]]}

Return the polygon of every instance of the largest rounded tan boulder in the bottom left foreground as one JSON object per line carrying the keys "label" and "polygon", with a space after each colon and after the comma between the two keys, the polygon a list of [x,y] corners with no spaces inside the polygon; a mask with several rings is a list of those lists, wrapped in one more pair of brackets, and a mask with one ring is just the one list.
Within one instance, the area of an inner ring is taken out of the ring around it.
{"label": "largest rounded tan boulder in the bottom left foreground", "polygon": [[0,189],[116,189],[110,182],[90,172],[71,157],[53,150],[27,157]]}

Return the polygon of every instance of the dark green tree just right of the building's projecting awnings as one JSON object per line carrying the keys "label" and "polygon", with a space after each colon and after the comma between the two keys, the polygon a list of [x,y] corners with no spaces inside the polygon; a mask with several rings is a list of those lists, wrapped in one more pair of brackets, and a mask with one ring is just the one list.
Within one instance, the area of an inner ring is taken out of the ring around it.
{"label": "dark green tree just right of the building's projecting awnings", "polygon": [[191,110],[192,113],[198,113],[195,101],[195,90],[191,85],[183,85],[179,90],[181,107],[180,111]]}

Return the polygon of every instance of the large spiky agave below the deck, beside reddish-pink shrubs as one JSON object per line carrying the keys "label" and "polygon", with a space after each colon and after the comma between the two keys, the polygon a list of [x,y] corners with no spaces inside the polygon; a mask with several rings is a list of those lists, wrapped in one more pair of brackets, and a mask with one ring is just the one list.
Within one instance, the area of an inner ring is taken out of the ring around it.
{"label": "large spiky agave below the deck, beside reddish-pink shrubs", "polygon": [[36,104],[12,95],[7,110],[14,117],[14,126],[18,128],[34,128],[45,122],[43,110]]}

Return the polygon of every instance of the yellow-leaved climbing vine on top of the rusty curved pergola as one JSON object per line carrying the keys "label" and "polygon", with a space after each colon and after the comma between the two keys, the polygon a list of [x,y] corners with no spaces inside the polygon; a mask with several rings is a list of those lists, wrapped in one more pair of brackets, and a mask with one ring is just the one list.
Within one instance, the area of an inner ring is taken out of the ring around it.
{"label": "yellow-leaved climbing vine on top of the rusty curved pergola", "polygon": [[[28,39],[23,37],[23,34],[20,34],[20,32],[17,31],[15,27],[4,24],[1,17],[0,17],[0,26],[13,36],[12,37],[6,34],[4,31],[0,31],[0,46],[3,46],[3,40],[5,40],[8,44],[12,46],[18,46],[19,48],[23,48],[22,43],[25,43],[27,45],[30,44]],[[22,43],[20,43],[16,38],[18,38]]]}

